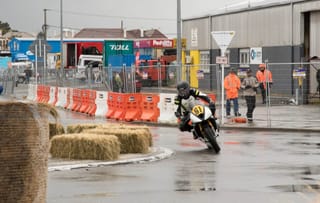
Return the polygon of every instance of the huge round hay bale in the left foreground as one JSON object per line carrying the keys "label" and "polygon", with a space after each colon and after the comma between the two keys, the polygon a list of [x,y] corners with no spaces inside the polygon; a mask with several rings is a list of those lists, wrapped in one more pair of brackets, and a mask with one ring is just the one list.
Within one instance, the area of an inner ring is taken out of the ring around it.
{"label": "huge round hay bale in the left foreground", "polygon": [[0,200],[46,202],[49,116],[45,104],[0,101]]}

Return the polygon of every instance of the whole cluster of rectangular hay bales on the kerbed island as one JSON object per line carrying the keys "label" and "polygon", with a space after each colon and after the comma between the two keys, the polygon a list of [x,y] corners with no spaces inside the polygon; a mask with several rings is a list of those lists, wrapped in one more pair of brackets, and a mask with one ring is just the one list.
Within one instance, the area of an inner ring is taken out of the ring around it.
{"label": "whole cluster of rectangular hay bales on the kerbed island", "polygon": [[116,160],[120,153],[148,153],[152,135],[146,126],[77,124],[51,139],[53,158]]}

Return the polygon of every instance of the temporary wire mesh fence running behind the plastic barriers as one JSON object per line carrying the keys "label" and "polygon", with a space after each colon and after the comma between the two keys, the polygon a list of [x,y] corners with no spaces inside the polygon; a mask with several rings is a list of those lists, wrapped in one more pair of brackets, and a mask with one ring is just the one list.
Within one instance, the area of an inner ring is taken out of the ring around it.
{"label": "temporary wire mesh fence running behind the plastic barriers", "polygon": [[[272,72],[273,84],[270,91],[267,92],[267,102],[262,104],[261,91],[258,90],[256,98],[256,110],[254,118],[262,123],[265,127],[277,125],[279,120],[275,116],[279,112],[290,110],[293,106],[320,103],[319,81],[316,79],[316,72],[320,69],[319,63],[267,63],[267,69]],[[85,78],[77,78],[77,70],[65,70],[62,76],[59,72],[51,72],[44,78],[35,78],[34,75],[30,79],[30,83],[45,84],[50,86],[61,86],[71,88],[95,89],[99,91],[114,90],[114,73],[118,73],[123,81],[122,92],[126,93],[176,93],[177,83],[177,65],[166,65],[165,73],[161,72],[161,66],[154,69],[154,77],[162,78],[161,81],[151,79],[150,75],[146,75],[144,70],[138,70],[135,66],[122,67],[98,67],[88,69]],[[190,82],[191,86],[198,88],[205,93],[214,93],[216,95],[217,115],[220,121],[228,122],[226,113],[224,112],[225,99],[222,100],[222,77],[224,78],[231,67],[236,68],[240,79],[244,77],[245,70],[242,64],[230,64],[224,67],[224,75],[222,76],[222,67],[219,64],[197,64],[184,65],[181,68],[181,79]],[[255,74],[258,65],[250,67]],[[149,73],[150,74],[150,73]],[[163,75],[164,74],[164,75]],[[61,79],[60,79],[61,78]],[[13,71],[4,71],[1,73],[1,82],[4,87],[4,94],[12,94],[15,91],[17,73]],[[148,80],[149,79],[149,80]],[[62,83],[61,81],[62,80]],[[225,98],[225,97],[224,97]],[[223,104],[223,105],[222,105]],[[246,103],[242,90],[239,91],[240,113],[245,117]],[[222,108],[223,107],[223,108]],[[293,112],[291,112],[293,113]],[[310,112],[313,113],[313,112]],[[318,112],[319,113],[319,112]],[[312,117],[312,116],[311,116]],[[282,122],[291,122],[291,118]],[[315,117],[309,122],[319,122]],[[222,122],[222,125],[224,122]]]}

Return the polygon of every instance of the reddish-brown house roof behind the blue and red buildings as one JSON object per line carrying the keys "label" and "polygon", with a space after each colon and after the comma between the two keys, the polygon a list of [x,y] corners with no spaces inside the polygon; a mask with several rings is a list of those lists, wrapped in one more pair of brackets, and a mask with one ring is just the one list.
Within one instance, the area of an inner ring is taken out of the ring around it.
{"label": "reddish-brown house roof behind the blue and red buildings", "polygon": [[125,30],[122,28],[84,28],[74,35],[74,38],[103,38],[103,39],[149,39],[149,38],[165,38],[163,33],[157,29],[151,30]]}

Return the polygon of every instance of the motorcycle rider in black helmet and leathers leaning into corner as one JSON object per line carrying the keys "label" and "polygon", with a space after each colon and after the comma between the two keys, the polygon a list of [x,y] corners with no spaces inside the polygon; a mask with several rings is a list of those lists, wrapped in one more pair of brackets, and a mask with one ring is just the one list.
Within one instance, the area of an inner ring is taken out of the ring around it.
{"label": "motorcycle rider in black helmet and leathers leaning into corner", "polygon": [[[192,126],[188,125],[188,122],[190,120],[190,114],[185,113],[186,111],[188,111],[187,110],[188,107],[186,107],[183,104],[183,101],[189,102],[189,99],[195,99],[195,100],[202,99],[209,104],[208,106],[212,112],[212,115],[213,116],[215,115],[216,106],[215,106],[214,102],[212,102],[211,99],[206,94],[200,92],[197,89],[190,88],[190,85],[187,81],[180,81],[177,84],[177,91],[178,91],[178,95],[175,98],[175,104],[178,105],[178,107],[175,112],[175,116],[177,118],[181,118],[181,122],[179,124],[180,131],[189,131],[190,132],[192,130]],[[191,110],[191,109],[189,109],[189,110]],[[218,126],[215,121],[215,118],[212,119],[212,124],[214,125],[214,129],[217,130]],[[198,138],[198,136],[195,133],[193,134],[193,136],[194,136],[194,139]]]}

